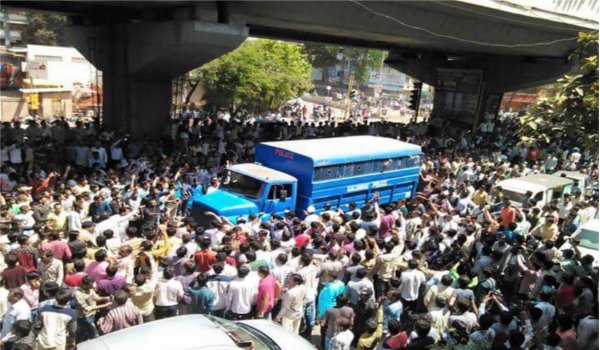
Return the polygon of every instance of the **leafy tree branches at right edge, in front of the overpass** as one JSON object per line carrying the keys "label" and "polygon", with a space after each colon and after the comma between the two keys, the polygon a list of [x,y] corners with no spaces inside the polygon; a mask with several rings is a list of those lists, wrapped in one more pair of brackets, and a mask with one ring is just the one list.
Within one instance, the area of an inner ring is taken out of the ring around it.
{"label": "leafy tree branches at right edge, in front of the overpass", "polygon": [[577,42],[570,57],[577,62],[574,74],[559,79],[518,119],[521,144],[570,139],[584,149],[598,149],[598,32],[580,33]]}

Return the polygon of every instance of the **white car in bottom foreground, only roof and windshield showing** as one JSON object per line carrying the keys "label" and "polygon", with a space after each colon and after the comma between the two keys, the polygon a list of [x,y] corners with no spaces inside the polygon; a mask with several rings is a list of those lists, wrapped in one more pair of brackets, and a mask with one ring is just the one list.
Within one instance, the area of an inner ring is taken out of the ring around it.
{"label": "white car in bottom foreground, only roof and windshield showing", "polygon": [[78,350],[315,350],[306,339],[266,320],[228,321],[185,315],[152,321],[77,345]]}

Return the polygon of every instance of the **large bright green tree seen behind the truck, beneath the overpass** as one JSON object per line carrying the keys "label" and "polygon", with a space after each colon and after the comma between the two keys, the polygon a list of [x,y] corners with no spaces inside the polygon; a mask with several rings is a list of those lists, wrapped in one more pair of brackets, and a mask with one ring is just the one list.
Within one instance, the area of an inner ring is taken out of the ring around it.
{"label": "large bright green tree seen behind the truck, beneath the overpass", "polygon": [[247,40],[201,68],[210,104],[264,111],[312,88],[311,65],[302,45]]}

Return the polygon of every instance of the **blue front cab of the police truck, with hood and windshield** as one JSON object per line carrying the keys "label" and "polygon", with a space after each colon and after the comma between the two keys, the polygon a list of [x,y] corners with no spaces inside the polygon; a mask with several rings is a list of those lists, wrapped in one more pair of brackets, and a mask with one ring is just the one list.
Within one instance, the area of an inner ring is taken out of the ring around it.
{"label": "blue front cab of the police truck, with hood and windshield", "polygon": [[235,223],[250,214],[281,214],[296,209],[298,180],[286,173],[259,164],[236,164],[227,169],[229,181],[212,193],[194,193],[192,216],[201,225],[212,220],[213,212]]}

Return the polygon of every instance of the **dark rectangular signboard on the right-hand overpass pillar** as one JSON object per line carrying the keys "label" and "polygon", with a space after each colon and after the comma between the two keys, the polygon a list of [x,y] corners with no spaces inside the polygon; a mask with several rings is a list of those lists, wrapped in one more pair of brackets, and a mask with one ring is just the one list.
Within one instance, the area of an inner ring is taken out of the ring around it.
{"label": "dark rectangular signboard on the right-hand overpass pillar", "polygon": [[483,71],[438,68],[433,108],[443,118],[472,125],[476,122]]}

